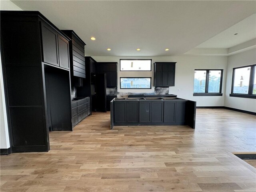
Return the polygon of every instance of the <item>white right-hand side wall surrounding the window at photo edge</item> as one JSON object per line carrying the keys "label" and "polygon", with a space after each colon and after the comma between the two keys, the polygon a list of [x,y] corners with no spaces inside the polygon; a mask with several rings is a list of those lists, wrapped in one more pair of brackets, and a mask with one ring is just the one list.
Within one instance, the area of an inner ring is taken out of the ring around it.
{"label": "white right-hand side wall surrounding the window at photo edge", "polygon": [[256,64],[256,49],[228,56],[224,106],[256,112],[256,99],[230,97],[233,68]]}

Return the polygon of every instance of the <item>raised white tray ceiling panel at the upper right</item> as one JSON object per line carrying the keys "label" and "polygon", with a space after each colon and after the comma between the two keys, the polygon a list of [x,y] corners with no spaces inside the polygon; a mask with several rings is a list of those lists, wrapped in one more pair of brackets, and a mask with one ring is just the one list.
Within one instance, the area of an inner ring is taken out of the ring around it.
{"label": "raised white tray ceiling panel at the upper right", "polygon": [[[237,35],[234,35],[236,34]],[[256,14],[245,18],[196,48],[230,48],[256,38]]]}

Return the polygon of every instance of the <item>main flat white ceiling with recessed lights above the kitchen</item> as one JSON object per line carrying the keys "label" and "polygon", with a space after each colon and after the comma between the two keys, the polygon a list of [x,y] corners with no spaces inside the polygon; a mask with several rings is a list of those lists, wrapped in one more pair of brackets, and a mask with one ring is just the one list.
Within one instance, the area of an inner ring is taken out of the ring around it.
{"label": "main flat white ceiling with recessed lights above the kitchen", "polygon": [[40,11],[60,29],[74,30],[88,56],[181,55],[256,13],[255,1],[12,2]]}

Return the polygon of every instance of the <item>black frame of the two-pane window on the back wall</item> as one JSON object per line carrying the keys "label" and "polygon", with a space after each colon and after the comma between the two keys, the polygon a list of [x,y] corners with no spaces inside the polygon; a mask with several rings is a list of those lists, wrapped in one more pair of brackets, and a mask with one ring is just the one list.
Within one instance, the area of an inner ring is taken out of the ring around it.
{"label": "black frame of the two-pane window on the back wall", "polygon": [[[205,90],[204,93],[194,93],[193,90],[193,96],[222,96],[223,94],[222,92],[222,79],[223,79],[223,69],[195,69],[195,71],[206,71],[206,80],[205,80]],[[221,71],[220,74],[220,90],[218,93],[208,93],[208,88],[209,88],[209,74],[210,71]],[[195,75],[194,75],[194,79],[195,79]],[[194,88],[194,86],[193,86]]]}

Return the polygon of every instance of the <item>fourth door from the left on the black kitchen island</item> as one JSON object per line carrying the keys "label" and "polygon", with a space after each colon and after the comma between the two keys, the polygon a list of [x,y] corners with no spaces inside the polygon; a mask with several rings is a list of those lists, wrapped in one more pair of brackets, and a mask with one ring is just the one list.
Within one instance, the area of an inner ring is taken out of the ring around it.
{"label": "fourth door from the left on the black kitchen island", "polygon": [[152,123],[163,122],[163,110],[164,110],[164,102],[151,103],[151,122]]}

